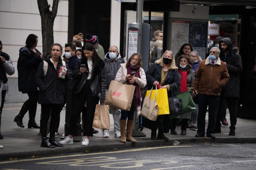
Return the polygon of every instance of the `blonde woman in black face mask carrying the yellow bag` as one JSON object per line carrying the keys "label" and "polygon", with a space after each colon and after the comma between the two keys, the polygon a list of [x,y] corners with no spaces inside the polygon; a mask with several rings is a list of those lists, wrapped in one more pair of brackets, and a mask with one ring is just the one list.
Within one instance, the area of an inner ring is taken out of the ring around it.
{"label": "blonde woman in black face mask carrying the yellow bag", "polygon": [[[167,89],[168,97],[172,97],[171,88],[173,88],[173,90],[177,90],[174,83],[177,84],[177,86],[180,85],[179,73],[177,67],[175,66],[173,52],[166,50],[162,57],[159,60],[156,60],[155,63],[148,69],[146,72],[146,78],[148,82],[146,90],[151,89],[152,86],[160,84],[161,88]],[[146,90],[143,95],[144,97]],[[152,140],[169,140],[169,138],[164,135],[164,132],[167,133],[170,127],[170,119],[168,115],[159,115],[156,121],[151,121],[143,117],[142,124],[143,127],[151,129]],[[164,127],[167,128],[165,129]],[[156,136],[157,128],[158,135]]]}

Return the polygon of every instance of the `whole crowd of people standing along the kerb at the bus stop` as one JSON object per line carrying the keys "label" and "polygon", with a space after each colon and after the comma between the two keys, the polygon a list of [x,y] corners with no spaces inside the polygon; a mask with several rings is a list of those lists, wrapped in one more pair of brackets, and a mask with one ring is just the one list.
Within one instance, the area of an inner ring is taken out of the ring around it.
{"label": "whole crowd of people standing along the kerb at the bus stop", "polygon": [[[111,45],[104,54],[99,38],[91,34],[87,34],[85,40],[82,33],[75,35],[71,43],[65,44],[64,51],[59,43],[54,43],[51,53],[45,56],[36,49],[38,37],[30,34],[26,46],[19,50],[17,63],[18,88],[20,92],[27,93],[29,99],[24,102],[14,122],[24,128],[22,119],[28,112],[28,128],[40,128],[41,147],[54,148],[73,144],[76,124],[82,115],[82,145],[89,145],[89,137],[98,132],[92,127],[96,104],[99,99],[104,103],[110,82],[115,80],[135,86],[129,111],[114,108],[109,111],[114,120],[114,137],[120,138],[122,143],[137,142],[132,137],[134,113],[140,111],[146,91],[156,85],[166,89],[168,97],[175,95],[172,91],[179,90],[182,93],[193,87],[194,90],[190,92],[196,109],[172,119],[168,115],[159,115],[156,121],[143,118],[142,126],[151,129],[152,140],[169,140],[164,135],[169,131],[177,135],[177,124],[181,125],[181,135],[186,135],[186,130],[191,129],[197,131],[195,137],[205,136],[207,108],[207,137],[215,138],[214,133],[221,133],[221,123],[223,124],[225,118],[223,112],[227,108],[231,124],[229,135],[235,135],[236,101],[239,98],[242,62],[237,49],[232,48],[231,39],[217,37],[204,60],[189,43],[183,44],[176,55],[171,50],[163,51],[162,40],[163,32],[156,31],[150,42],[150,67],[145,72],[139,53],[134,53],[125,60],[118,47]],[[1,114],[8,90],[6,74],[14,74],[14,67],[9,55],[2,52],[1,41],[0,52],[1,125]],[[255,72],[256,66],[252,70],[252,77],[255,77]],[[71,80],[72,85],[69,86],[68,82]],[[57,142],[55,138],[59,136],[60,112],[66,104],[69,90],[72,94],[68,96],[72,99],[72,106],[69,106],[72,107],[72,113],[66,133],[68,135],[62,134],[63,140]],[[37,103],[41,104],[40,126],[35,120]],[[50,116],[50,128],[47,130]],[[109,129],[103,129],[102,137],[109,136]],[[0,139],[3,139],[1,132]]]}

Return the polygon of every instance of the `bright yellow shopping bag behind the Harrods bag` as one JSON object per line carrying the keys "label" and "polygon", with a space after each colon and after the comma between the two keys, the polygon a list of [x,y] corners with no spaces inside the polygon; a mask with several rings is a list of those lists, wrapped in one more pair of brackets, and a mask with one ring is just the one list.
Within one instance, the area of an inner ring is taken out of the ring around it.
{"label": "bright yellow shopping bag behind the Harrods bag", "polygon": [[[146,97],[149,97],[149,93],[151,90],[147,90]],[[152,91],[155,93],[155,90]],[[167,96],[167,89],[157,89],[156,90],[156,103],[159,107],[158,115],[168,115],[170,114],[169,111],[169,104],[168,104],[168,96]],[[150,96],[150,99],[154,99],[154,95]]]}

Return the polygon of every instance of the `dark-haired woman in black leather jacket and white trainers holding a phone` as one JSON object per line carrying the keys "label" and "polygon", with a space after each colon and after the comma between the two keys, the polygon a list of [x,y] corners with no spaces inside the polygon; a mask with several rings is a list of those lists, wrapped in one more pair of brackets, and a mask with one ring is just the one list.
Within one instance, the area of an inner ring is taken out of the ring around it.
{"label": "dark-haired woman in black leather jacket and white trainers holding a phone", "polygon": [[73,82],[77,82],[77,85],[73,89],[75,90],[75,96],[73,112],[70,116],[68,136],[60,141],[61,144],[73,144],[76,123],[87,102],[87,109],[83,112],[84,137],[82,145],[89,145],[89,136],[93,136],[92,123],[95,108],[96,104],[99,103],[98,94],[101,93],[103,103],[105,100],[105,64],[91,43],[85,43],[82,50],[82,58],[78,60],[72,73]]}

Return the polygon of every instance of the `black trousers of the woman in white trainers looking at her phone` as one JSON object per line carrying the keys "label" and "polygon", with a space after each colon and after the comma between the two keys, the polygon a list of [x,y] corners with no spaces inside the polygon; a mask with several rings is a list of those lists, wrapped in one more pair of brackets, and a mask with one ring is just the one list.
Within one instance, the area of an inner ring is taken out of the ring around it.
{"label": "black trousers of the woman in white trainers looking at her phone", "polygon": [[[87,109],[84,109],[84,104],[87,101]],[[68,134],[74,134],[76,123],[83,111],[83,122],[84,122],[84,136],[93,136],[93,118],[95,113],[96,104],[99,103],[99,98],[92,96],[90,88],[90,81],[87,80],[79,94],[75,94],[73,103],[73,112],[69,121]]]}

